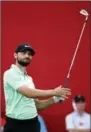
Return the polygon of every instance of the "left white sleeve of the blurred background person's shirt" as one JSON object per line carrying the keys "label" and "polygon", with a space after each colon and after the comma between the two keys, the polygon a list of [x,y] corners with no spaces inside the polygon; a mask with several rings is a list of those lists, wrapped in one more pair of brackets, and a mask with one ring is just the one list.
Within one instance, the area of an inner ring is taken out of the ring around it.
{"label": "left white sleeve of the blurred background person's shirt", "polygon": [[73,124],[72,115],[67,115],[65,118],[66,130],[68,129],[75,129]]}

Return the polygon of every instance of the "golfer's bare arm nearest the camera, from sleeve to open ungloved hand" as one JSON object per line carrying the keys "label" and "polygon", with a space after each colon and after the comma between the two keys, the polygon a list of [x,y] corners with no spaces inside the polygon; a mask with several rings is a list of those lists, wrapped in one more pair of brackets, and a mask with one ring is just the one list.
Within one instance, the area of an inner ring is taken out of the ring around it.
{"label": "golfer's bare arm nearest the camera, from sleeve to open ungloved hand", "polygon": [[68,95],[71,95],[70,89],[62,88],[61,86],[53,90],[40,90],[28,88],[27,86],[23,85],[19,87],[17,91],[28,98],[58,96],[66,99],[68,98]]}

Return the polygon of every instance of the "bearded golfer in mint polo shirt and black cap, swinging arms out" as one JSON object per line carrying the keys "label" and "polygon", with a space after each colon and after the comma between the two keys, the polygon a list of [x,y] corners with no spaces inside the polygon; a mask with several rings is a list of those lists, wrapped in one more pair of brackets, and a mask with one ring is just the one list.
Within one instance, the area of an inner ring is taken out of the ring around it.
{"label": "bearded golfer in mint polo shirt and black cap, swinging arms out", "polygon": [[[59,86],[51,90],[35,88],[32,77],[26,67],[35,55],[29,44],[20,44],[14,53],[15,64],[4,72],[4,92],[6,103],[6,124],[4,132],[40,132],[38,110],[48,108],[67,99],[71,95],[69,88]],[[50,97],[47,100],[37,98]]]}

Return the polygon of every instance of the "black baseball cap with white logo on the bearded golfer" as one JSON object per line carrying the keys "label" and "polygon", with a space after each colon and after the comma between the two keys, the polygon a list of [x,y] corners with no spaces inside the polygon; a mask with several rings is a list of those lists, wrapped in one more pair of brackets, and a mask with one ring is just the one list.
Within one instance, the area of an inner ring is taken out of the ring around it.
{"label": "black baseball cap with white logo on the bearded golfer", "polygon": [[26,51],[26,50],[31,51],[31,55],[32,55],[32,56],[35,55],[34,49],[32,48],[31,45],[29,45],[29,44],[27,44],[27,43],[22,43],[22,44],[18,45],[18,47],[17,47],[16,50],[15,50],[15,53],[23,52],[23,51]]}

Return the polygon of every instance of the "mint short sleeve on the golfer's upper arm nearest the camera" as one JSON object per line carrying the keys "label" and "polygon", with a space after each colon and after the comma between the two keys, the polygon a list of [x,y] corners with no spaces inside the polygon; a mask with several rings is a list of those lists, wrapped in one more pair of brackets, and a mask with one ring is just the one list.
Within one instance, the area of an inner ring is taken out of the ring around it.
{"label": "mint short sleeve on the golfer's upper arm nearest the camera", "polygon": [[21,76],[14,74],[13,72],[5,72],[3,77],[4,85],[9,85],[13,89],[17,90],[23,85]]}

